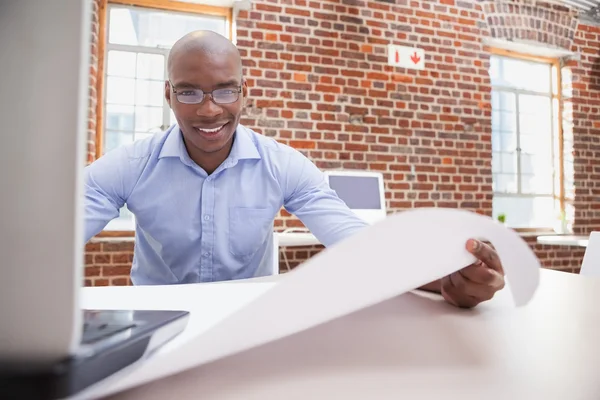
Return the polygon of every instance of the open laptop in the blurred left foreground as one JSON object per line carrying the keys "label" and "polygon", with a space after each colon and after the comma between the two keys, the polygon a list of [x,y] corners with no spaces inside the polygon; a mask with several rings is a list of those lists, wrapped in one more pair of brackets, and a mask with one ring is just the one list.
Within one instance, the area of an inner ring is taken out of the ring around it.
{"label": "open laptop in the blurred left foreground", "polygon": [[91,0],[0,4],[1,399],[77,394],[188,319],[80,307],[91,15]]}

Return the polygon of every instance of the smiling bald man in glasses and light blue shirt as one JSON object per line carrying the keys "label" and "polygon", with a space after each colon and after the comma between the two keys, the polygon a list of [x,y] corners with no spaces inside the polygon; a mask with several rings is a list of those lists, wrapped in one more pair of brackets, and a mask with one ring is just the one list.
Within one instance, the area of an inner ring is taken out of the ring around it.
{"label": "smiling bald man in glasses and light blue shirt", "polygon": [[[283,206],[330,246],[366,224],[300,152],[239,124],[247,96],[237,48],[210,31],[172,48],[165,98],[177,124],[99,158],[85,173],[85,239],[127,204],[136,216],[134,284],[249,278],[260,270]],[[435,243],[432,243],[435,247]],[[423,289],[473,307],[504,286],[495,251]]]}

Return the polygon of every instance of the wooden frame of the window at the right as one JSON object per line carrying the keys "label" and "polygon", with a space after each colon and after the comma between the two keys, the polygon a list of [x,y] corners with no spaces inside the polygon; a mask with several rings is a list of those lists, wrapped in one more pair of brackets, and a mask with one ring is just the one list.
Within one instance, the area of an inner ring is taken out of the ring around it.
{"label": "wooden frame of the window at the right", "polygon": [[[558,140],[558,190],[555,190],[552,198],[555,201],[559,202],[560,212],[565,213],[566,200],[565,200],[565,160],[564,160],[564,127],[563,127],[563,87],[562,87],[562,64],[559,58],[550,58],[550,57],[542,57],[542,56],[534,56],[529,54],[523,54],[519,52],[515,52],[512,50],[502,49],[502,48],[489,48],[490,58],[491,56],[500,56],[500,57],[508,57],[517,60],[523,61],[532,61],[550,64],[551,67],[556,69],[556,93],[552,93],[550,99],[552,102],[554,100],[558,103],[558,126],[557,126],[557,139]],[[492,85],[490,82],[490,101],[492,95]],[[490,106],[491,110],[491,106]],[[495,196],[496,193],[493,193]],[[530,227],[530,228],[515,228],[518,232],[532,232],[532,231],[540,231],[545,232],[548,231],[548,227]]]}

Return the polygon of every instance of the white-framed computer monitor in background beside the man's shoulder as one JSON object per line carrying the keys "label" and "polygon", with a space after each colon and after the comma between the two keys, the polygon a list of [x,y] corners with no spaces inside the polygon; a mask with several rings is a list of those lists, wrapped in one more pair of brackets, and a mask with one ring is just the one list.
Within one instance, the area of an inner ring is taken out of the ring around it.
{"label": "white-framed computer monitor in background beside the man's shoulder", "polygon": [[354,213],[369,224],[386,217],[383,175],[358,170],[325,171],[329,186]]}

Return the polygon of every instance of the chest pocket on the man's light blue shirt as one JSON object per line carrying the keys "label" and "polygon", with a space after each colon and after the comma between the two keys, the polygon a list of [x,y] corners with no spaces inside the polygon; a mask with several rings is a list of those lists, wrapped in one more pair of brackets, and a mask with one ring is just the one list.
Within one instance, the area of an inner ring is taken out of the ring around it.
{"label": "chest pocket on the man's light blue shirt", "polygon": [[229,251],[247,259],[272,234],[275,215],[270,208],[231,207],[229,209]]}

